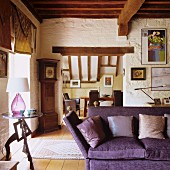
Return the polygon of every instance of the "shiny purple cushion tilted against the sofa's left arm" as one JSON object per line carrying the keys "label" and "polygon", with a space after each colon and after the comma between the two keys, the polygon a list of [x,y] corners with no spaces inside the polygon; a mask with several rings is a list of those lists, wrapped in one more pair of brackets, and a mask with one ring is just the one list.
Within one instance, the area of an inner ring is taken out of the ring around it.
{"label": "shiny purple cushion tilted against the sofa's left arm", "polygon": [[85,119],[81,124],[77,125],[77,128],[92,148],[102,143],[106,137],[100,116]]}

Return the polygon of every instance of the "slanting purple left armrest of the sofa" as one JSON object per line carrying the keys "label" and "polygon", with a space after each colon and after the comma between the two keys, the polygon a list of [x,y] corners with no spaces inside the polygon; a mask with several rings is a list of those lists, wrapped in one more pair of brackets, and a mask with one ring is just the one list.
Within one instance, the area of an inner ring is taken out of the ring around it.
{"label": "slanting purple left armrest of the sofa", "polygon": [[64,122],[71,132],[84,158],[87,158],[90,145],[86,142],[81,132],[77,128],[77,125],[80,124],[82,120],[78,118],[77,114],[74,111],[71,111],[64,117]]}

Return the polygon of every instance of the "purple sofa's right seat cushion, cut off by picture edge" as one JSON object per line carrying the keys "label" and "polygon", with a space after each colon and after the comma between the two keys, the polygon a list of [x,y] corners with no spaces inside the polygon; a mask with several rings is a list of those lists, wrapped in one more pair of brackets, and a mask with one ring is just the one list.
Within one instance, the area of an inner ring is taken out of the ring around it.
{"label": "purple sofa's right seat cushion, cut off by picture edge", "polygon": [[145,159],[170,160],[170,139],[145,138],[141,140],[145,149]]}

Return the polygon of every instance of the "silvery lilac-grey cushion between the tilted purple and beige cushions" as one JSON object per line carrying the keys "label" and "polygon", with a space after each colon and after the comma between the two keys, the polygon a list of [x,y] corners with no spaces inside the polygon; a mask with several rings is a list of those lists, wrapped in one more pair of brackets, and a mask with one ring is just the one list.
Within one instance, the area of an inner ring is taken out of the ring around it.
{"label": "silvery lilac-grey cushion between the tilted purple and beige cushions", "polygon": [[133,116],[109,116],[109,128],[113,136],[133,137]]}

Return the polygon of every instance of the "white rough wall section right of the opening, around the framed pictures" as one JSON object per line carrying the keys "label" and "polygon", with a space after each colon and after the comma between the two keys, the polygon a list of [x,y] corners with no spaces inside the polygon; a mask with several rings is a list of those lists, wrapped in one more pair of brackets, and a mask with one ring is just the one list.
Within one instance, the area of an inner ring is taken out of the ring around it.
{"label": "white rough wall section right of the opening, around the framed pictures", "polygon": [[[141,29],[142,28],[165,28],[167,30],[167,64],[166,65],[141,65]],[[128,35],[130,46],[135,47],[134,54],[127,54],[124,58],[124,105],[145,106],[146,102],[153,102],[140,90],[135,88],[151,86],[151,67],[170,67],[170,19],[136,19],[131,23]],[[131,81],[131,67],[146,67],[146,80]],[[170,80],[169,80],[170,81]],[[170,91],[145,90],[153,98],[170,97]]]}

